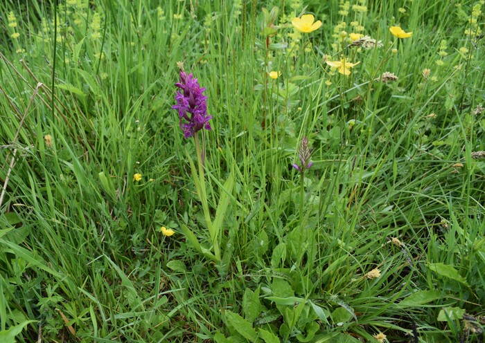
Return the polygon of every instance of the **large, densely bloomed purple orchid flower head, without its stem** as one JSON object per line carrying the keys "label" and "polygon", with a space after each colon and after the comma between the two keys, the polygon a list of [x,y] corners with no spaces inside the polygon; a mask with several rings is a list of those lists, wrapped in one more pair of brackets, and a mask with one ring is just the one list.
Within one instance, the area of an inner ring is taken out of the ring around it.
{"label": "large, densely bloomed purple orchid flower head, without its stem", "polygon": [[187,74],[185,71],[180,71],[180,82],[175,86],[181,90],[177,91],[175,95],[177,104],[172,108],[179,112],[180,129],[184,132],[185,138],[193,137],[195,132],[203,128],[211,130],[209,120],[212,116],[207,114],[208,98],[203,95],[206,89],[200,88],[193,74]]}

